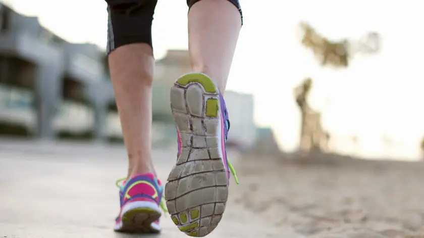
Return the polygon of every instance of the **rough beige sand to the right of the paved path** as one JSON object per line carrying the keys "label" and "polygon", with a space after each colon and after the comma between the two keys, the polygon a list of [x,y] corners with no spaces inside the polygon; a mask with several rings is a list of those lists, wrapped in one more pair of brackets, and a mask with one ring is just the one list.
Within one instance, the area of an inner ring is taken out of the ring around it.
{"label": "rough beige sand to the right of the paved path", "polygon": [[242,156],[232,199],[280,237],[424,238],[424,163]]}

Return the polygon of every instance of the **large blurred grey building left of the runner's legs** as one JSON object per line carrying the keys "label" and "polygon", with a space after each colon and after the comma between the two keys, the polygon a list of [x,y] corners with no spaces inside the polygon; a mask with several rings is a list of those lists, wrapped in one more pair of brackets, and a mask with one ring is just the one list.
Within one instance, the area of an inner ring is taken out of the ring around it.
{"label": "large blurred grey building left of the runner's legs", "polygon": [[0,5],[2,120],[24,122],[45,139],[87,130],[101,139],[113,101],[104,60],[97,46],[66,42],[36,17]]}

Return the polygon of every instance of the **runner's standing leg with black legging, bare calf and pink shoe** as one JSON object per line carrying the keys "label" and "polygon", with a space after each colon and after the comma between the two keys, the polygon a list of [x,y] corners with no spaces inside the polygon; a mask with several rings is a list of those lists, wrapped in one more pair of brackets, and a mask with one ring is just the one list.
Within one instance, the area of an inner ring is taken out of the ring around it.
{"label": "runner's standing leg with black legging, bare calf and pink shoe", "polygon": [[151,158],[151,93],[154,59],[151,23],[156,0],[106,0],[111,80],[128,153],[120,187],[121,212],[115,230],[160,230],[162,185]]}

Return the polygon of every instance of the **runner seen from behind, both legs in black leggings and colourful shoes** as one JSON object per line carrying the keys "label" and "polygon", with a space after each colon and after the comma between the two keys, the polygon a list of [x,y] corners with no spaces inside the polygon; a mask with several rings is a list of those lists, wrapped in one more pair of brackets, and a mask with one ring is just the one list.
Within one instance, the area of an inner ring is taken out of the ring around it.
{"label": "runner seen from behind, both legs in black leggings and colourful shoes", "polygon": [[106,2],[109,67],[129,159],[127,177],[117,182],[121,211],[115,230],[159,232],[164,196],[181,231],[205,236],[221,220],[230,172],[237,182],[225,149],[230,122],[222,93],[242,26],[239,1],[187,0],[193,72],[171,88],[178,153],[165,189],[153,167],[150,139],[157,0]]}

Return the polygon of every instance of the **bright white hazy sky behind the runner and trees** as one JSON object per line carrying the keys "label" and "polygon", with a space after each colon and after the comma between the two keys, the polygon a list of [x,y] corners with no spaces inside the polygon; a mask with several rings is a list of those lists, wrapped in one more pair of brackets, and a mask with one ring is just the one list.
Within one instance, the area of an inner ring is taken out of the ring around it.
{"label": "bright white hazy sky behind the runner and trees", "polygon": [[[106,45],[104,1],[3,1],[22,14],[38,16],[42,25],[66,40]],[[420,156],[424,34],[418,29],[424,15],[419,1],[240,2],[244,26],[227,89],[253,93],[255,122],[272,127],[283,150],[293,150],[299,140],[293,87],[312,77],[310,101],[323,114],[334,151],[408,160]],[[323,68],[300,44],[300,21],[330,39],[360,39],[377,31],[382,50],[374,56],[354,56],[347,69]],[[186,1],[158,0],[152,34],[156,59],[168,49],[187,49]],[[357,144],[352,136],[359,138]]]}

